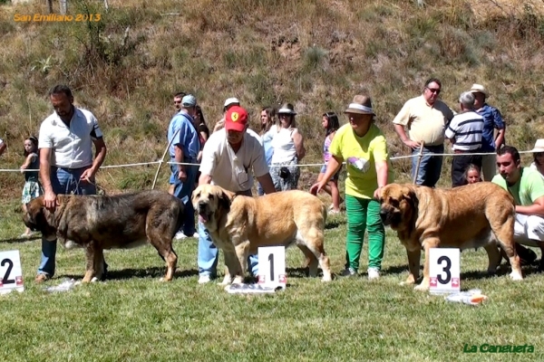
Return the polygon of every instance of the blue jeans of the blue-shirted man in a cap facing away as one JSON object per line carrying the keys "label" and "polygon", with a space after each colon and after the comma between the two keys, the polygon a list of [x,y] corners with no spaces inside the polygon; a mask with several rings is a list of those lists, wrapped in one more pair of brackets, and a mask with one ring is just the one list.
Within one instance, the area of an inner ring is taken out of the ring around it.
{"label": "blue jeans of the blue-shirted man in a cap facing away", "polygon": [[[171,162],[176,162],[171,158]],[[186,159],[184,163],[196,163],[196,159]],[[195,230],[195,209],[190,201],[190,196],[195,189],[195,182],[197,180],[197,172],[199,172],[199,165],[185,166],[185,173],[187,179],[181,182],[178,178],[178,165],[170,164],[170,170],[172,172],[170,176],[170,183],[174,185],[174,196],[178,197],[183,203],[183,226],[182,231],[187,236],[192,236]]]}

